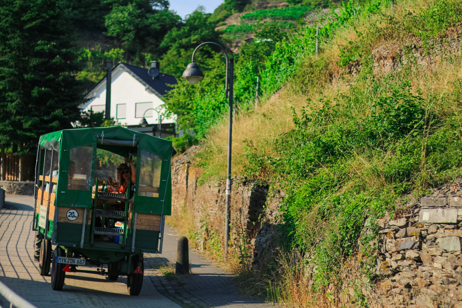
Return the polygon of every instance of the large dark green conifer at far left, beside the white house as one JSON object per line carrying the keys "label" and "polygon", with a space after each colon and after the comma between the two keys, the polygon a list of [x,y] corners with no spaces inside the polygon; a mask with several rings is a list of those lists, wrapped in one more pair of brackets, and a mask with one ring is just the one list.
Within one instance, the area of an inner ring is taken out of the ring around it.
{"label": "large dark green conifer at far left, beside the white house", "polygon": [[68,13],[53,0],[0,2],[0,144],[28,152],[41,134],[79,119]]}

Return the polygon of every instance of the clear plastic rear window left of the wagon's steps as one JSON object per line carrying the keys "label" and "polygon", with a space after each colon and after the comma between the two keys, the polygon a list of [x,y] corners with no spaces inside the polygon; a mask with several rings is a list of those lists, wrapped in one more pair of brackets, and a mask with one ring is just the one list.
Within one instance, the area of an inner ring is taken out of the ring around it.
{"label": "clear plastic rear window left of the wagon's steps", "polygon": [[67,188],[73,190],[90,190],[93,147],[79,146],[72,148],[69,154],[69,180],[67,181]]}

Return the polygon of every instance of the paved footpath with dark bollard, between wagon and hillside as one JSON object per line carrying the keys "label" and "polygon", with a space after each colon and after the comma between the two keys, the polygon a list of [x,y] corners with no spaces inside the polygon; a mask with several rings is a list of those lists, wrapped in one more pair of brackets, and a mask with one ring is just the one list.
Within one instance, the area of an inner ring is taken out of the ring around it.
{"label": "paved footpath with dark bollard, between wagon and hillside", "polygon": [[[154,268],[162,263],[176,263],[178,238],[175,230],[165,225],[162,254],[145,254],[145,265]],[[240,296],[232,283],[233,276],[213,266],[193,249],[189,249],[189,266],[192,275],[179,276],[169,281],[164,276],[151,276],[157,290],[182,307],[207,308],[267,308],[271,304]]]}

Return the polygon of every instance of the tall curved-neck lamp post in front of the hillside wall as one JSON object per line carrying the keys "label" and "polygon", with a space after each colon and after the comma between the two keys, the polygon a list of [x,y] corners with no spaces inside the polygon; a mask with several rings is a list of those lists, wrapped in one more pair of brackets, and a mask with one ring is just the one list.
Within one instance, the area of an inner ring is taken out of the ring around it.
{"label": "tall curved-neck lamp post in front of the hillside wall", "polygon": [[234,59],[228,58],[225,48],[220,44],[215,42],[205,42],[200,44],[194,49],[193,56],[191,58],[191,63],[186,66],[186,69],[183,72],[181,78],[188,80],[190,84],[195,84],[199,80],[204,78],[204,74],[199,69],[199,66],[194,63],[194,55],[201,46],[206,44],[217,45],[226,58],[226,75],[225,75],[225,97],[229,99],[229,108],[228,108],[228,170],[226,176],[226,200],[225,200],[225,260],[226,254],[228,251],[228,240],[230,234],[230,201],[231,201],[231,136],[232,136],[232,108],[233,108],[233,69],[234,69]]}

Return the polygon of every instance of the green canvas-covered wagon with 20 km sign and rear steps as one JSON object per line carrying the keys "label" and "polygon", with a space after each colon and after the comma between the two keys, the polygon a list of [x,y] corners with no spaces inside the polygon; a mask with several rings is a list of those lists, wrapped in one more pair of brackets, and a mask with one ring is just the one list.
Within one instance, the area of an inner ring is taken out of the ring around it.
{"label": "green canvas-covered wagon with 20 km sign and rear steps", "polygon": [[[140,293],[143,253],[162,252],[174,153],[169,140],[119,126],[40,137],[34,257],[41,275],[48,275],[51,265],[54,290],[62,289],[66,272],[80,271],[111,280],[127,275],[128,293]],[[127,169],[135,180],[125,181],[123,190]],[[85,264],[98,266],[97,271],[79,269]]]}

